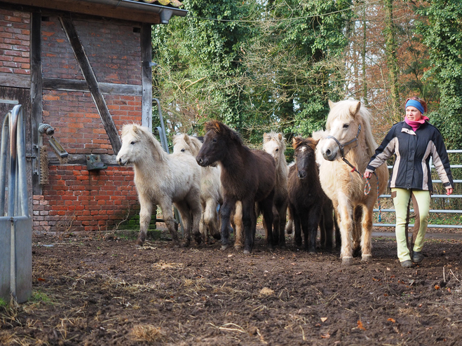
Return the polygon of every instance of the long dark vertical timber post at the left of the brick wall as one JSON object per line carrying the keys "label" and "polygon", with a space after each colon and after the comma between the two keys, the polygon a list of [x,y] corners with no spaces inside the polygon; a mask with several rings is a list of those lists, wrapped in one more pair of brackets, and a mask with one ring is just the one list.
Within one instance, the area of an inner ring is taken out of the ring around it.
{"label": "long dark vertical timber post at the left of the brick wall", "polygon": [[41,195],[40,184],[40,151],[43,144],[39,125],[42,123],[42,63],[41,63],[41,13],[33,12],[31,18],[30,38],[30,98],[32,106],[31,135],[32,135],[32,193]]}

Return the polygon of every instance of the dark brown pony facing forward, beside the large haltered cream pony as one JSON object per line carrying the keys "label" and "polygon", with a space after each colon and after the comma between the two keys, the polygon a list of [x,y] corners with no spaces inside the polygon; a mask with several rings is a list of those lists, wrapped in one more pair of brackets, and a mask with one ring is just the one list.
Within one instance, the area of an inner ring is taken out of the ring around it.
{"label": "dark brown pony facing forward, beside the large haltered cream pony", "polygon": [[316,252],[318,225],[321,230],[321,247],[332,249],[334,230],[332,202],[322,191],[315,148],[318,141],[312,138],[294,137],[295,165],[289,170],[289,209],[295,224],[295,244],[301,247],[301,230],[305,249]]}

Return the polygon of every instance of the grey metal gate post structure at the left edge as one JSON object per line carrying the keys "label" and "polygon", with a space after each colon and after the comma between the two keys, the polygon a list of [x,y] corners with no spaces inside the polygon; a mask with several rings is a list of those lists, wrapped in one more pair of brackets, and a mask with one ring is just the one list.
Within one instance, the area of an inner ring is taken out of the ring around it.
{"label": "grey metal gate post structure at the left edge", "polygon": [[23,303],[32,295],[32,218],[28,209],[25,122],[18,104],[6,114],[1,128],[0,298],[6,301],[12,295]]}

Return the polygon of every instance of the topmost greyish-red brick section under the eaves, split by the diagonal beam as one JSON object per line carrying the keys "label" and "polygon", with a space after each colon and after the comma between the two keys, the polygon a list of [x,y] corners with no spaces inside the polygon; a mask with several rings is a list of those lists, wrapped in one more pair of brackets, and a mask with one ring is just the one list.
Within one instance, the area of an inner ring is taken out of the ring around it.
{"label": "topmost greyish-red brick section under the eaves, split by the diagonal beam", "polygon": [[[98,82],[141,85],[140,33],[133,26],[74,20]],[[42,22],[43,76],[83,79],[58,18]]]}

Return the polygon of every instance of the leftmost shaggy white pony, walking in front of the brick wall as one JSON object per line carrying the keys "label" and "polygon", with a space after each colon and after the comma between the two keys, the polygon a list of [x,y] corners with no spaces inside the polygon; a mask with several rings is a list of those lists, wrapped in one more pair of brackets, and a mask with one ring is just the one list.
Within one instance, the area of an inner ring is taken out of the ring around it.
{"label": "leftmost shaggy white pony, walking in front of the brick wall", "polygon": [[191,230],[196,242],[201,242],[201,167],[190,155],[168,155],[147,127],[135,124],[123,125],[122,147],[117,154],[119,165],[133,163],[135,186],[140,200],[140,235],[137,245],[146,239],[154,205],[160,205],[163,220],[179,245],[172,204],[182,217],[185,241],[191,242]]}

